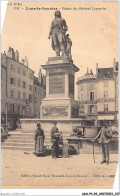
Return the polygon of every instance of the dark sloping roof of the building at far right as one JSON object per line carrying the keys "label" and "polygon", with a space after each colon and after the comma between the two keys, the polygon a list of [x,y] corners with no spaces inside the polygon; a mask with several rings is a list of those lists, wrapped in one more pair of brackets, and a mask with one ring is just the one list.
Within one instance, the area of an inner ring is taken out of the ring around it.
{"label": "dark sloping roof of the building at far right", "polygon": [[97,78],[113,78],[113,68],[98,68]]}

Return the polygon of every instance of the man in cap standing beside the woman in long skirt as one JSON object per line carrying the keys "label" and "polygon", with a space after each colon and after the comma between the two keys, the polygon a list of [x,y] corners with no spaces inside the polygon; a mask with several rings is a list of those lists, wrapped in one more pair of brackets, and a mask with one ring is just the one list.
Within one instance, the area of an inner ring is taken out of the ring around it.
{"label": "man in cap standing beside the woman in long skirt", "polygon": [[53,121],[53,128],[51,129],[52,158],[59,157],[59,140],[60,132],[57,128],[57,122]]}

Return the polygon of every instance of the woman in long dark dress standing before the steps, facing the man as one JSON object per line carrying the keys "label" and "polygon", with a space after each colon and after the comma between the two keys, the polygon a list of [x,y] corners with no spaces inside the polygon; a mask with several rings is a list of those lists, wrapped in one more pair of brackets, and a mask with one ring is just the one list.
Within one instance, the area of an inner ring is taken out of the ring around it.
{"label": "woman in long dark dress standing before the steps, facing the man", "polygon": [[37,123],[37,130],[35,130],[35,152],[37,156],[44,154],[44,131],[41,129],[41,124]]}

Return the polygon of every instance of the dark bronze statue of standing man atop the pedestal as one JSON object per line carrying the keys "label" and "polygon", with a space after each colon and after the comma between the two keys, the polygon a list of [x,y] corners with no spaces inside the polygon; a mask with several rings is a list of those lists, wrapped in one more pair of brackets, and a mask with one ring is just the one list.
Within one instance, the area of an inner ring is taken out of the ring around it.
{"label": "dark bronze statue of standing man atop the pedestal", "polygon": [[60,56],[60,51],[62,55],[66,54],[66,31],[68,27],[66,21],[61,18],[61,13],[59,10],[55,12],[55,19],[52,21],[49,39],[52,36],[52,48],[56,52],[56,56]]}

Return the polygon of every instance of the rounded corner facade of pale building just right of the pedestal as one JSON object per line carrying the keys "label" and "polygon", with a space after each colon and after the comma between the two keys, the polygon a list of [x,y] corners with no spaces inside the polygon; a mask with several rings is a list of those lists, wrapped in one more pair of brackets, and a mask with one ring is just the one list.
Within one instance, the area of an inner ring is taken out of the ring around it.
{"label": "rounded corner facade of pale building just right of the pedestal", "polygon": [[80,116],[93,116],[97,110],[96,75],[86,74],[78,80],[78,104]]}

